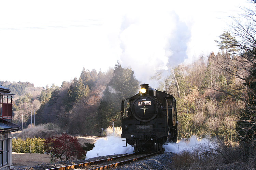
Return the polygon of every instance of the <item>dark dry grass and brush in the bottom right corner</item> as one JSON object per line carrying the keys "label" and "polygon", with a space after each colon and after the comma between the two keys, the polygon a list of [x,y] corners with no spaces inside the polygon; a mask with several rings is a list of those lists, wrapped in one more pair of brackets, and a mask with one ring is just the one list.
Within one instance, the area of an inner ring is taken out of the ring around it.
{"label": "dark dry grass and brush in the bottom right corner", "polygon": [[256,158],[245,159],[243,149],[218,143],[214,149],[184,150],[173,157],[172,169],[255,170]]}

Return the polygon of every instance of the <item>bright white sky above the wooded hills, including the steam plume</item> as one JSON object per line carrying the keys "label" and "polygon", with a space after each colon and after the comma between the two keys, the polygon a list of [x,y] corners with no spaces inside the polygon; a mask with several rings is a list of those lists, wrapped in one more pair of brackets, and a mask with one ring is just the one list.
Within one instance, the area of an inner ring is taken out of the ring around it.
{"label": "bright white sky above the wooded hills, including the steam plume", "polygon": [[0,80],[43,87],[108,71],[117,60],[141,82],[217,52],[246,0],[0,1]]}

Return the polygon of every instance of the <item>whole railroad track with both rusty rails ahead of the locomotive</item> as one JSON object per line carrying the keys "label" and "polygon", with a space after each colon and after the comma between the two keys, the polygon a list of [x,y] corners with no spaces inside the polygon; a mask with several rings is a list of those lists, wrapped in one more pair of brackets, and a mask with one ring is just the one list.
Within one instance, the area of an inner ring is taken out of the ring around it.
{"label": "whole railroad track with both rusty rails ahead of the locomotive", "polygon": [[74,165],[68,165],[68,166],[63,166],[63,167],[56,167],[56,168],[51,168],[51,169],[46,169],[46,170],[69,170],[69,169],[74,169],[74,170],[82,170],[82,169],[90,169],[90,170],[103,170],[103,169],[109,169],[109,168],[114,168],[123,164],[129,164],[134,161],[150,157],[152,155],[156,155],[159,153],[163,153],[164,150],[151,153],[151,154],[127,154],[127,155],[122,155],[122,156],[116,156],[112,158],[106,158],[106,159],[101,159],[101,160],[95,160],[91,162],[86,162],[86,163],[81,163],[81,164],[74,164]]}

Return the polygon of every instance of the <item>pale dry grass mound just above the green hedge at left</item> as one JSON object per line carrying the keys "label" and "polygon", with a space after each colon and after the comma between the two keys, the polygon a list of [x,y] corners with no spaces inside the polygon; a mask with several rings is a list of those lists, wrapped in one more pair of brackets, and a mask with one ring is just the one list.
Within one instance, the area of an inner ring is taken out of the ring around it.
{"label": "pale dry grass mound just above the green hedge at left", "polygon": [[22,139],[33,137],[47,138],[57,134],[61,134],[61,132],[62,130],[59,128],[59,126],[53,123],[40,124],[37,126],[31,126],[30,124],[27,129],[24,129],[24,132],[20,132],[15,136]]}

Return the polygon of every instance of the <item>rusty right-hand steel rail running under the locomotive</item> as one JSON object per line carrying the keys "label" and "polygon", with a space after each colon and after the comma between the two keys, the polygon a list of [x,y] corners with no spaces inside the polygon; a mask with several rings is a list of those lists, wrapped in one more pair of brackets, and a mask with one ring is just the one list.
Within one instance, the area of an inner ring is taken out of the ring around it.
{"label": "rusty right-hand steel rail running under the locomotive", "polygon": [[89,170],[103,170],[103,169],[115,168],[119,165],[123,165],[123,164],[126,164],[126,163],[131,163],[131,162],[137,161],[139,159],[146,158],[148,156],[152,156],[152,155],[155,155],[155,154],[158,154],[158,153],[162,153],[163,151],[164,150],[161,150],[161,151],[151,153],[151,154],[148,154],[148,155],[144,155],[144,156],[140,156],[140,157],[137,157],[137,158],[124,160],[124,161],[121,161],[121,162],[117,162],[117,163],[113,163],[113,164],[109,164],[109,165],[104,165],[104,166],[101,166],[101,167],[91,168]]}

